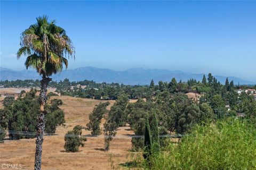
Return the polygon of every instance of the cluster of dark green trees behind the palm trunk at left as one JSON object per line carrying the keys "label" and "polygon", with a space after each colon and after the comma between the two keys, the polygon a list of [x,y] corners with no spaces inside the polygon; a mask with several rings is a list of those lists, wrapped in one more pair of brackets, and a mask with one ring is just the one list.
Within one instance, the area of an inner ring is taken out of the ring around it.
{"label": "cluster of dark green trees behind the palm trunk at left", "polygon": [[[0,109],[0,129],[9,130],[10,140],[35,138],[37,114],[40,108],[36,92],[35,89],[27,93],[22,92],[16,100],[13,96],[4,98],[4,108]],[[59,108],[62,104],[60,99],[52,99],[45,105],[46,133],[55,133],[57,126],[65,123],[64,112]],[[25,133],[19,133],[21,131]],[[3,141],[4,137],[5,134],[2,134],[0,141]]]}

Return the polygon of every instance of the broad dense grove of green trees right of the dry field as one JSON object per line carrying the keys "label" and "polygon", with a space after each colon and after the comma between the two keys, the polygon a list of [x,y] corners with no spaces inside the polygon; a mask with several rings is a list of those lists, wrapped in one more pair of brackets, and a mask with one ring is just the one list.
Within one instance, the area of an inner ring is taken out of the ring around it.
{"label": "broad dense grove of green trees right of the dry field", "polygon": [[[205,76],[203,80],[205,80]],[[195,82],[191,80],[191,82]],[[158,124],[159,134],[185,134],[189,133],[195,125],[214,123],[227,117],[236,117],[237,113],[243,113],[245,120],[254,123],[256,120],[256,100],[251,94],[242,92],[238,96],[233,82],[226,81],[225,85],[220,84],[217,79],[209,75],[208,79],[199,83],[202,96],[199,101],[188,98],[187,95],[178,91],[178,83],[175,79],[167,86],[155,86],[151,81],[149,89],[150,95],[147,98],[139,98],[135,103],[129,103],[129,97],[123,93],[118,96],[116,103],[107,111],[109,103],[100,103],[95,106],[90,114],[90,122],[87,124],[88,130],[92,134],[101,134],[100,121],[106,118],[103,132],[111,137],[107,139],[107,149],[112,136],[115,135],[119,126],[130,125],[135,135],[145,135],[145,126]],[[162,90],[158,88],[162,87]],[[198,88],[199,88],[198,87]],[[155,93],[156,90],[159,92]],[[156,117],[156,118],[155,118]],[[157,123],[154,121],[157,120]],[[151,131],[155,131],[150,127]],[[149,131],[149,130],[148,130]],[[132,138],[134,150],[145,147],[142,138]],[[159,140],[159,145],[164,146],[165,138]]]}

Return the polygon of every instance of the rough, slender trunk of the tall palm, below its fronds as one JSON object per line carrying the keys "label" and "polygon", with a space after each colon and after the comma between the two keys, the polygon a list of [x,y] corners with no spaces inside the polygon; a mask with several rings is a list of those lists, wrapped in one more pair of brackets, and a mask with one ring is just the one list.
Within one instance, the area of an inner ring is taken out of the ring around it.
{"label": "rough, slender trunk of the tall palm, below its fronds", "polygon": [[51,78],[46,78],[43,75],[41,80],[41,91],[39,95],[40,112],[37,117],[37,131],[36,131],[36,153],[35,153],[35,170],[41,170],[42,164],[42,147],[43,147],[43,133],[45,127],[45,111],[44,105],[47,100],[47,86],[51,81]]}

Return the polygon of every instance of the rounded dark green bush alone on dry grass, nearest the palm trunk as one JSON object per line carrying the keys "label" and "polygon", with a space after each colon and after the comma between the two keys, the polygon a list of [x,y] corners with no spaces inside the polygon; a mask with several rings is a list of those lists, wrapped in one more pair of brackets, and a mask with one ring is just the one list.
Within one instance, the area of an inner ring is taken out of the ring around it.
{"label": "rounded dark green bush alone on dry grass, nearest the palm trunk", "polygon": [[82,129],[82,126],[76,125],[73,128],[73,131],[68,131],[66,133],[64,145],[66,152],[77,152],[79,146],[84,147],[84,141],[86,141],[86,138],[81,136]]}

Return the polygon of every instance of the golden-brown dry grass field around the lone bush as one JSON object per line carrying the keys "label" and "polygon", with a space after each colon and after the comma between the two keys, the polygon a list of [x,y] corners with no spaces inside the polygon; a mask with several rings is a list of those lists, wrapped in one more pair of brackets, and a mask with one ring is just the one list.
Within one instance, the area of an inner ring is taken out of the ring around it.
{"label": "golden-brown dry grass field around the lone bush", "polygon": [[[85,146],[79,148],[78,152],[67,153],[64,146],[64,135],[75,125],[83,125],[89,122],[89,114],[93,107],[100,103],[99,100],[81,99],[68,96],[51,97],[63,101],[61,109],[65,112],[65,126],[58,127],[55,136],[45,136],[43,143],[42,169],[111,169],[111,164],[118,164],[127,161],[131,138],[125,134],[133,134],[129,127],[122,127],[117,130],[117,135],[124,135],[123,138],[115,138],[110,143],[109,151],[102,151],[104,147],[103,136],[99,138],[87,138]],[[110,101],[113,105],[115,101]],[[110,108],[110,106],[109,106]],[[90,134],[90,131],[83,131],[83,134]],[[18,141],[5,140],[0,143],[0,165],[21,164],[22,169],[33,169],[35,154],[35,139],[21,139]],[[111,164],[110,164],[111,157]],[[1,169],[1,167],[0,167]]]}

